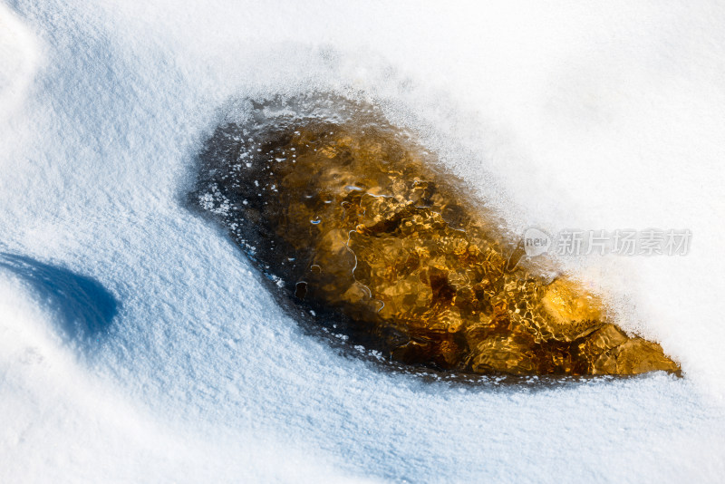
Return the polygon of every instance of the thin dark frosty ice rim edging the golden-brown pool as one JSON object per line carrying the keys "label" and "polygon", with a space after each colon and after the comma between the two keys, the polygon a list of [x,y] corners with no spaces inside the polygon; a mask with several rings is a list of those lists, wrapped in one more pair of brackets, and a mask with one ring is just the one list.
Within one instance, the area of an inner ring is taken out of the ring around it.
{"label": "thin dark frosty ice rim edging the golden-brown pool", "polygon": [[[261,151],[260,146],[268,139],[269,133],[284,131],[292,132],[295,126],[304,125],[310,122],[330,123],[343,125],[347,122],[368,124],[383,122],[392,129],[398,131],[403,139],[415,140],[427,155],[436,152],[435,148],[430,149],[423,137],[420,136],[422,127],[415,126],[415,123],[406,122],[407,127],[391,121],[386,112],[382,109],[383,104],[378,100],[370,99],[364,92],[345,92],[341,95],[337,92],[307,92],[294,95],[277,94],[258,99],[239,98],[227,102],[218,111],[211,129],[207,131],[206,138],[202,140],[202,150],[198,153],[193,173],[191,189],[183,195],[183,203],[202,218],[206,218],[218,227],[223,229],[226,237],[238,247],[245,257],[252,263],[253,273],[259,277],[260,282],[266,286],[278,305],[290,316],[302,329],[305,337],[313,337],[324,341],[341,357],[362,359],[368,364],[382,372],[403,373],[419,378],[424,382],[453,382],[459,384],[475,384],[477,386],[498,385],[498,384],[521,384],[534,385],[541,388],[552,386],[565,386],[575,382],[611,381],[630,378],[648,378],[658,371],[639,374],[601,374],[601,375],[561,375],[561,374],[510,374],[510,373],[467,373],[460,371],[447,371],[432,368],[422,363],[401,363],[393,360],[391,356],[385,356],[386,349],[369,334],[358,329],[358,324],[339,311],[331,309],[325,311],[319,305],[310,307],[306,301],[293,297],[288,291],[285,293],[285,280],[275,274],[275,267],[271,267],[256,257],[257,245],[260,240],[254,240],[254,229],[247,229],[248,224],[240,208],[235,201],[227,198],[222,189],[219,189],[220,181],[227,181],[234,176],[240,176],[245,169],[249,169],[249,176],[254,176],[253,150]],[[406,112],[406,121],[415,120],[415,115]],[[419,131],[420,128],[420,131]],[[426,127],[429,131],[430,126]],[[205,133],[206,134],[206,133]],[[436,132],[433,138],[446,139],[447,137]],[[449,138],[449,137],[448,137]],[[221,142],[219,142],[221,140]],[[242,146],[243,141],[249,144]],[[444,145],[453,145],[452,152],[457,153],[459,158],[463,153],[454,140],[445,140]],[[432,158],[433,172],[446,177],[456,177],[451,173],[446,164],[446,157],[442,153]],[[446,154],[450,155],[450,151]],[[478,160],[476,153],[465,152],[467,159]],[[235,160],[236,162],[232,161]],[[431,160],[427,160],[430,162]],[[488,172],[483,173],[483,179],[488,181],[488,189],[495,193],[496,198],[489,198],[488,194],[476,192],[466,186],[465,182],[459,187],[463,191],[459,194],[461,198],[469,203],[483,206],[493,206],[488,209],[488,217],[498,222],[498,230],[501,235],[509,241],[519,238],[517,229],[509,227],[507,219],[502,218],[502,198],[505,200],[506,192],[502,189],[498,180]],[[463,180],[458,179],[461,182]],[[262,188],[256,181],[257,187]],[[274,189],[274,187],[272,187]],[[497,199],[498,198],[498,199]],[[244,200],[243,203],[246,203]],[[517,215],[508,213],[507,216]],[[247,223],[245,223],[247,222]],[[533,262],[533,261],[532,261]],[[536,264],[534,264],[536,265]],[[562,274],[560,268],[551,272],[550,266],[545,266],[543,272],[549,271],[547,278],[554,280],[558,274]],[[562,267],[563,268],[563,267]],[[571,276],[571,275],[570,275]],[[294,293],[294,291],[293,291]],[[681,371],[676,373],[681,377]]]}

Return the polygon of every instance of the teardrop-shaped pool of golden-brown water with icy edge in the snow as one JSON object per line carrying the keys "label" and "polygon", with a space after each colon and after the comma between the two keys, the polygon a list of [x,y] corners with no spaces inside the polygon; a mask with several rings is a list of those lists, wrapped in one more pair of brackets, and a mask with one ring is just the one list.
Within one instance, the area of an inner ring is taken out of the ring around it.
{"label": "teardrop-shaped pool of golden-brown water with icy edge in the snow", "polygon": [[283,295],[355,343],[459,372],[679,372],[598,297],[522,257],[496,214],[370,106],[248,114],[208,140],[193,202]]}

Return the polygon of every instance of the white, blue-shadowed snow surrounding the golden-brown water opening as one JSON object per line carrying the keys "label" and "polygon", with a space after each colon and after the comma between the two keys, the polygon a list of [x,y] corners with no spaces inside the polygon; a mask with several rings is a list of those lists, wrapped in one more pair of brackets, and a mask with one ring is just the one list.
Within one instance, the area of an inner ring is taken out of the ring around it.
{"label": "white, blue-shadowed snow surrounding the golden-brown water opening", "polygon": [[[720,481],[725,6],[477,4],[0,5],[0,481]],[[312,89],[514,227],[690,228],[576,267],[684,378],[427,383],[301,332],[180,200],[229,99]]]}

